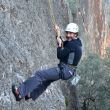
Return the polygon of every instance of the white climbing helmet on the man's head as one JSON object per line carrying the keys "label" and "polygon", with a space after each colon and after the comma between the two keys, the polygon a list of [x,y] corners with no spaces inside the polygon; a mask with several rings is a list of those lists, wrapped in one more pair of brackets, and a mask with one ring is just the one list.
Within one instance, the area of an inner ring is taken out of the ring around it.
{"label": "white climbing helmet on the man's head", "polygon": [[78,27],[78,25],[76,23],[69,23],[66,26],[65,32],[74,32],[74,33],[77,33],[77,32],[79,32],[79,27]]}

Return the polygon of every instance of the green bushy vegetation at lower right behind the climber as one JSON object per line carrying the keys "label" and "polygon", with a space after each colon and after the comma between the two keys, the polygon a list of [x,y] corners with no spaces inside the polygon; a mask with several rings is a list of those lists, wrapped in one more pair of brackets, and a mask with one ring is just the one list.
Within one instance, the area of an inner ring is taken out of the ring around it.
{"label": "green bushy vegetation at lower right behind the climber", "polygon": [[110,110],[110,48],[102,59],[90,54],[80,63],[79,102],[82,110]]}

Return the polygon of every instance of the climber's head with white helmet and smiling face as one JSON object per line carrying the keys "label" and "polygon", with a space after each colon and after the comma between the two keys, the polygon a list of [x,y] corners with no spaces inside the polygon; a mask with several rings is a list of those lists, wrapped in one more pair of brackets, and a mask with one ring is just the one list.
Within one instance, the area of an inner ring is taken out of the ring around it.
{"label": "climber's head with white helmet and smiling face", "polygon": [[79,27],[76,23],[69,23],[66,26],[65,33],[66,33],[66,39],[68,41],[71,41],[72,39],[76,39],[78,36]]}

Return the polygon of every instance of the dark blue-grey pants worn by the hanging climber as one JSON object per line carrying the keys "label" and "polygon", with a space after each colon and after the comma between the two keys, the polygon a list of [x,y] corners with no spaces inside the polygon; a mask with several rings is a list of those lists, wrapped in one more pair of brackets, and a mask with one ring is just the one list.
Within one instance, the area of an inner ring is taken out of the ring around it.
{"label": "dark blue-grey pants worn by the hanging climber", "polygon": [[34,76],[27,79],[19,86],[19,92],[22,97],[30,93],[31,98],[35,100],[39,97],[53,81],[59,79],[67,80],[74,75],[74,69],[65,64],[58,67],[37,71]]}

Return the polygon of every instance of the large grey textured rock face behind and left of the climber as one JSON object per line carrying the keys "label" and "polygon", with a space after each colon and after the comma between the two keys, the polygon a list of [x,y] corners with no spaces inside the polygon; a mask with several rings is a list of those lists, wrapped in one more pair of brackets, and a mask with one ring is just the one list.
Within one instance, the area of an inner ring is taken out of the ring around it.
{"label": "large grey textured rock face behind and left of the climber", "polygon": [[[57,24],[68,23],[68,5],[52,0]],[[56,43],[48,0],[0,0],[0,110],[65,110],[59,82],[37,101],[16,102],[12,83],[56,66]]]}

